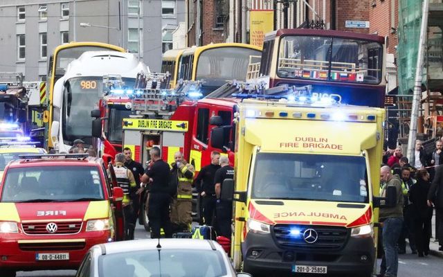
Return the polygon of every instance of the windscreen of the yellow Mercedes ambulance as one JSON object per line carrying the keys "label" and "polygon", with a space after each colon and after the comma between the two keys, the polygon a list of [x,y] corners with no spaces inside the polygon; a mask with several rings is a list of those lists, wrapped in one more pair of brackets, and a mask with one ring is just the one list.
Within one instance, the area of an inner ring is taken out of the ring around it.
{"label": "windscreen of the yellow Mercedes ambulance", "polygon": [[360,203],[369,199],[364,157],[258,153],[252,180],[254,198]]}

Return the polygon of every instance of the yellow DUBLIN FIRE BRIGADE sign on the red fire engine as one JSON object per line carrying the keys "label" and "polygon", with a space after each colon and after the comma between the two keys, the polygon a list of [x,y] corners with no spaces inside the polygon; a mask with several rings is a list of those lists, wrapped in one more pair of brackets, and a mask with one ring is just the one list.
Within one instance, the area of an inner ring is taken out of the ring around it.
{"label": "yellow DUBLIN FIRE BRIGADE sign on the red fire engine", "polygon": [[187,132],[188,121],[123,118],[123,129],[155,129],[159,131]]}

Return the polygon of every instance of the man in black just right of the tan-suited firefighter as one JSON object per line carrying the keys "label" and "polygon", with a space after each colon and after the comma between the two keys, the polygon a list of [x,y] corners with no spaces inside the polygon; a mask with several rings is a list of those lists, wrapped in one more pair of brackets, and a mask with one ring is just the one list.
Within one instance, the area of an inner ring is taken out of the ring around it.
{"label": "man in black just right of the tan-suited firefighter", "polygon": [[199,192],[201,203],[203,206],[204,224],[214,226],[215,203],[215,172],[220,168],[219,165],[220,153],[213,151],[210,153],[210,164],[201,168],[199,175],[194,181],[194,184]]}

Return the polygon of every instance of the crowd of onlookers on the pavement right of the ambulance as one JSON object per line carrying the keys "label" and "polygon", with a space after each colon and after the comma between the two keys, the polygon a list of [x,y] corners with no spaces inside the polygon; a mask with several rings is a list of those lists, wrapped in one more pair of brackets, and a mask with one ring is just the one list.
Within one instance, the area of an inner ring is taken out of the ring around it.
{"label": "crowd of onlookers on the pavement right of the ambulance", "polygon": [[422,141],[417,140],[413,165],[403,156],[401,147],[386,150],[383,154],[380,196],[386,197],[388,188],[393,186],[397,201],[394,206],[380,208],[383,257],[379,276],[397,276],[398,254],[406,253],[406,238],[411,253],[419,257],[428,256],[433,208],[436,211],[435,241],[439,242],[439,250],[443,251],[442,151],[442,141],[436,141],[435,149],[426,153]]}

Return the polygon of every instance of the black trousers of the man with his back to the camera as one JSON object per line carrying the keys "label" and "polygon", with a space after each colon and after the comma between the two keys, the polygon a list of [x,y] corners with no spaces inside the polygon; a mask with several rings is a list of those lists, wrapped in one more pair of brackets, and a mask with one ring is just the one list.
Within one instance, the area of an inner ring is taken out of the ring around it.
{"label": "black trousers of the man with his back to the camera", "polygon": [[166,238],[172,238],[170,199],[169,193],[150,193],[147,217],[150,220],[151,238],[160,238],[161,228],[165,231]]}

